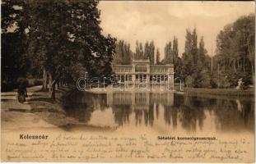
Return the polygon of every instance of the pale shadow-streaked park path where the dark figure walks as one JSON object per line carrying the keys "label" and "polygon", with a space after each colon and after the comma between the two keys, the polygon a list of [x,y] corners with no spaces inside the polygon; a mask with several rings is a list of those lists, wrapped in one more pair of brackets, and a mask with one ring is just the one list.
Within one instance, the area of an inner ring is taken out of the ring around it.
{"label": "pale shadow-streaked park path where the dark figure walks", "polygon": [[35,98],[42,97],[41,86],[27,88],[26,103],[18,103],[16,89],[1,93],[1,129],[2,131],[47,129],[56,126],[44,121],[32,112],[32,103]]}

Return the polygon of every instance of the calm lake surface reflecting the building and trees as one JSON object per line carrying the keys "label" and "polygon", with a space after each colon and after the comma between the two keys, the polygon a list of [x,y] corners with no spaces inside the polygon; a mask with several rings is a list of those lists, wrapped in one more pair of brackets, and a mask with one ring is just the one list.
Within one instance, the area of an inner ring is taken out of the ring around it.
{"label": "calm lake surface reflecting the building and trees", "polygon": [[149,127],[166,132],[254,131],[253,98],[198,98],[170,92],[78,92],[67,97],[64,107],[68,116],[86,124],[111,126],[112,121],[118,128]]}

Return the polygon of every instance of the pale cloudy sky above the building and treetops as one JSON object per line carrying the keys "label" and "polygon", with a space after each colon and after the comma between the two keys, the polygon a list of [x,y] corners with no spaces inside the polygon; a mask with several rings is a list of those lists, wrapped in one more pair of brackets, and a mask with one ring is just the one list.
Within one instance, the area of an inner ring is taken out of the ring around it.
{"label": "pale cloudy sky above the building and treetops", "polygon": [[254,2],[175,2],[175,1],[100,1],[100,26],[131,44],[154,40],[164,57],[165,43],[179,42],[179,56],[184,52],[186,29],[197,29],[198,43],[205,41],[208,55],[214,55],[216,35],[240,16],[254,13]]}

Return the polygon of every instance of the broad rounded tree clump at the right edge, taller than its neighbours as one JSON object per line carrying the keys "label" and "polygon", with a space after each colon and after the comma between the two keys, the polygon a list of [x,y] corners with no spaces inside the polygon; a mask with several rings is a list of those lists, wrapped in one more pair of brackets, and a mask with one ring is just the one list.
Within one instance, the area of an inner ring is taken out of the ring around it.
{"label": "broad rounded tree clump at the right edge, taller than its neighbours", "polygon": [[227,76],[230,86],[242,78],[245,85],[254,84],[255,16],[241,16],[226,25],[216,39],[216,74]]}

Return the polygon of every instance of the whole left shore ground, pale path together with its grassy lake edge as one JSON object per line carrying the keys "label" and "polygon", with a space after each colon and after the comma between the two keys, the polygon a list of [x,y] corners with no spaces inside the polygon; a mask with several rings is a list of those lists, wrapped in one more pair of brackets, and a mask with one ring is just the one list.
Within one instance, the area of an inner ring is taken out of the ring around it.
{"label": "whole left shore ground, pale path together with its grassy lake edge", "polygon": [[[68,114],[63,103],[69,103],[66,97],[72,93],[70,87],[56,89],[55,100],[48,98],[48,92],[43,92],[41,86],[29,87],[27,92],[26,103],[17,102],[16,89],[1,93],[2,130],[71,130],[80,126],[90,131],[113,130],[109,126],[89,125]],[[77,112],[77,107],[72,110]]]}

